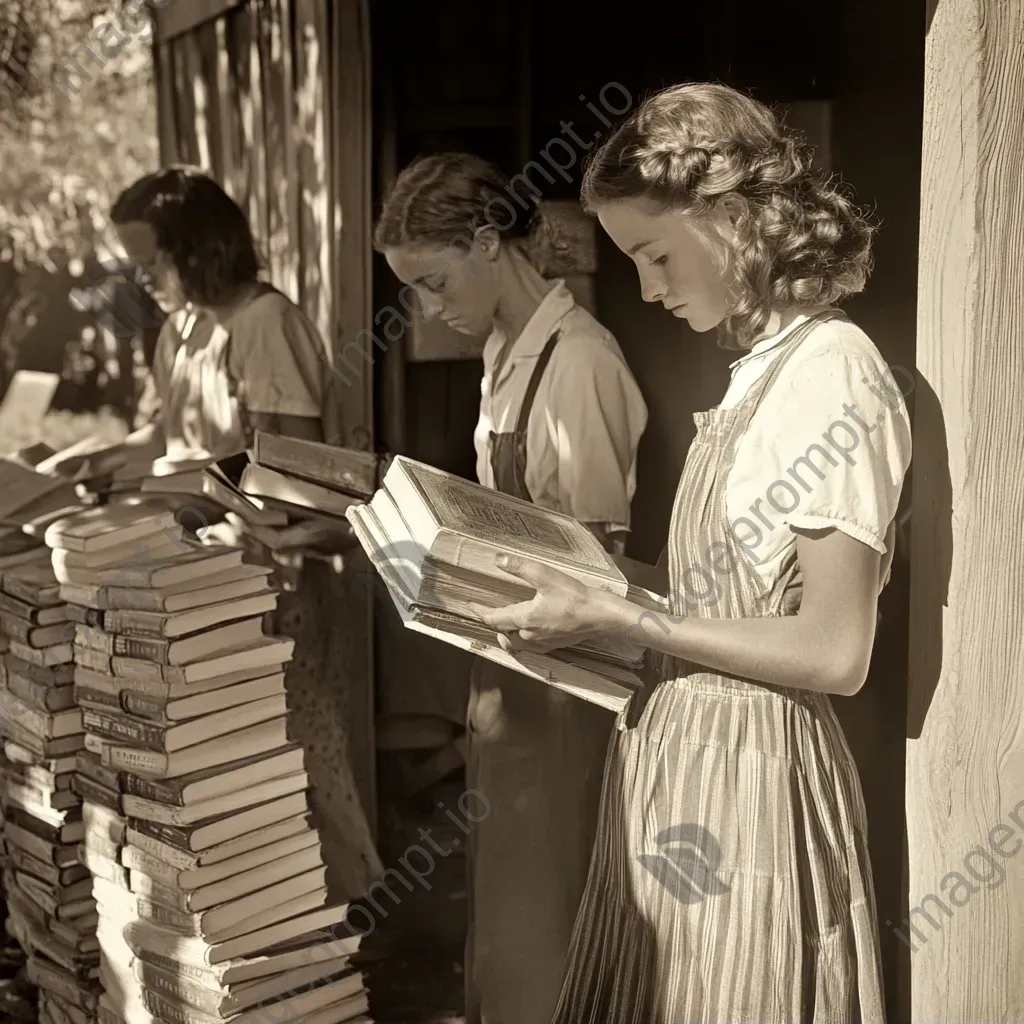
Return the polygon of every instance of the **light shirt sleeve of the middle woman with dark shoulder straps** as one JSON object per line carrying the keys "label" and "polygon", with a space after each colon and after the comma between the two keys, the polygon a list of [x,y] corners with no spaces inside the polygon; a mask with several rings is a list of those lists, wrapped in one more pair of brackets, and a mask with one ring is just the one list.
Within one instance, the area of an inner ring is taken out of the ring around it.
{"label": "light shirt sleeve of the middle woman with dark shoulder straps", "polygon": [[561,344],[545,409],[558,507],[581,522],[627,529],[647,407],[616,352],[586,339]]}

